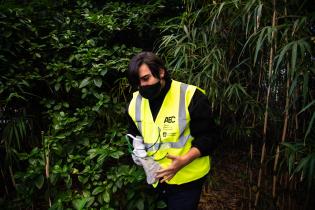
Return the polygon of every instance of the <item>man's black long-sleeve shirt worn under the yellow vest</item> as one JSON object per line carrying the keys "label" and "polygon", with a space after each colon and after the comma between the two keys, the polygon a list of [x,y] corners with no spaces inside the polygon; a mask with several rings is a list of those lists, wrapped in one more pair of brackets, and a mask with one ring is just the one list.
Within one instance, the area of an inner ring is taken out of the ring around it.
{"label": "man's black long-sleeve shirt worn under the yellow vest", "polygon": [[[166,81],[165,87],[161,90],[160,95],[155,99],[149,100],[153,120],[155,120],[162,106],[163,100],[171,87],[171,83],[171,80]],[[211,155],[218,145],[219,135],[212,118],[211,107],[207,96],[196,89],[188,106],[188,111],[191,119],[190,132],[194,137],[192,147],[196,147],[200,151],[201,156]],[[134,136],[141,135],[129,114],[127,114],[127,118],[129,125],[128,133]]]}

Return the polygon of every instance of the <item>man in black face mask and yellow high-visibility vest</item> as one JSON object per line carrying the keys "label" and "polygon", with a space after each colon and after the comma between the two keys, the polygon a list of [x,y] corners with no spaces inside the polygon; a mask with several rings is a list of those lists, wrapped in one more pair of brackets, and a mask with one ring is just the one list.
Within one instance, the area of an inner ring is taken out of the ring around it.
{"label": "man in black face mask and yellow high-visibility vest", "polygon": [[197,209],[217,144],[207,97],[171,80],[152,52],[131,59],[128,79],[139,89],[128,107],[129,133],[142,137],[148,156],[161,166],[156,178],[168,209]]}

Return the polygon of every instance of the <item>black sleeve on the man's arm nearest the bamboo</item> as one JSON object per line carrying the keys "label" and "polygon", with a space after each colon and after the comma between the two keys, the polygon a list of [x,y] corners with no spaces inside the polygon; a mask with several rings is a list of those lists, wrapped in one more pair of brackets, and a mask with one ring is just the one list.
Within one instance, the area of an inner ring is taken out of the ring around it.
{"label": "black sleeve on the man's arm nearest the bamboo", "polygon": [[212,155],[219,143],[219,129],[214,123],[210,102],[205,94],[196,90],[188,106],[190,113],[190,132],[194,137],[192,146],[201,156]]}

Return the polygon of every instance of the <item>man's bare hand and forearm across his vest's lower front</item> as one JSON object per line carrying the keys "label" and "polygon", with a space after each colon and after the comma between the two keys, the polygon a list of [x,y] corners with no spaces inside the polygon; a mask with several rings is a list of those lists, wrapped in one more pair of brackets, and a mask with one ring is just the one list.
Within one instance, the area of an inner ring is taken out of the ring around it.
{"label": "man's bare hand and forearm across his vest's lower front", "polygon": [[172,163],[168,168],[157,171],[156,178],[162,178],[161,183],[171,180],[180,169],[200,157],[200,155],[200,151],[195,147],[192,147],[189,152],[183,156],[167,155],[166,157],[171,159]]}

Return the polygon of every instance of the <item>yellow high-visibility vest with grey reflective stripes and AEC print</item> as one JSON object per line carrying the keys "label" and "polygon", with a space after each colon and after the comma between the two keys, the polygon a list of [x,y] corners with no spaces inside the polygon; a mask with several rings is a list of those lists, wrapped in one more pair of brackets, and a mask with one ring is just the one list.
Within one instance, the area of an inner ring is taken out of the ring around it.
{"label": "yellow high-visibility vest with grey reflective stripes and AEC print", "polygon": [[[196,86],[172,80],[162,106],[153,120],[149,100],[139,91],[133,93],[128,112],[140,131],[146,151],[153,156],[162,168],[167,168],[172,160],[167,154],[182,156],[191,148],[193,137],[190,134],[189,103]],[[198,88],[199,89],[199,88]],[[168,184],[183,184],[205,176],[210,170],[210,157],[193,160],[167,181]]]}

